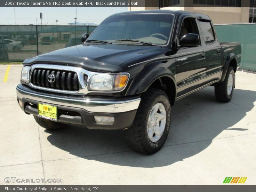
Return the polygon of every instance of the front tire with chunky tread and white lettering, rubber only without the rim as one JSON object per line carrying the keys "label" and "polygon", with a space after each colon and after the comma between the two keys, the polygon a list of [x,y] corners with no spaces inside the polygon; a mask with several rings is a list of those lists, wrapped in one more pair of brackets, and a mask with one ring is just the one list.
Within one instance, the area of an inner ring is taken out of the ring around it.
{"label": "front tire with chunky tread and white lettering, rubber only without the rim", "polygon": [[[148,116],[156,103],[162,103],[166,111],[166,124],[161,138],[152,142],[148,137]],[[166,93],[160,89],[149,88],[141,95],[140,106],[137,110],[133,124],[125,132],[128,146],[141,154],[154,154],[160,150],[169,133],[171,123],[171,105]]]}

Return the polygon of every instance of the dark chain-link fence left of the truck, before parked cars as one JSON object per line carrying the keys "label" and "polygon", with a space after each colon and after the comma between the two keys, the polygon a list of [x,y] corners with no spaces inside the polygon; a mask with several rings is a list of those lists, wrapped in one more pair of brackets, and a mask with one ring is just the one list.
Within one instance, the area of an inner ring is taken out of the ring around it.
{"label": "dark chain-link fence left of the truck, before parked cars", "polygon": [[0,62],[23,61],[40,54],[81,44],[83,33],[97,26],[0,26]]}

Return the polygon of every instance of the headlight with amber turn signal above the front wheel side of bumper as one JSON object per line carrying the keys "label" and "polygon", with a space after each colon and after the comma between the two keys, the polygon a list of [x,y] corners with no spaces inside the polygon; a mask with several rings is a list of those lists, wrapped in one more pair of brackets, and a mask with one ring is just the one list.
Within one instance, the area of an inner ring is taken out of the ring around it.
{"label": "headlight with amber turn signal above the front wheel side of bumper", "polygon": [[98,74],[88,83],[89,91],[120,91],[128,82],[128,74]]}

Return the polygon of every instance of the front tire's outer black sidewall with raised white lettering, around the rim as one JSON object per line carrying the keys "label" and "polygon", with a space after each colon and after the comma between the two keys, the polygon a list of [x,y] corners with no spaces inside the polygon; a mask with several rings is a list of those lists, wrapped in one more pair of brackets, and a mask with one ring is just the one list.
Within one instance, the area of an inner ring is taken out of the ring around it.
{"label": "front tire's outer black sidewall with raised white lettering, around the rim", "polygon": [[[166,111],[166,124],[164,128],[164,133],[162,137],[156,141],[153,142],[149,139],[148,137],[148,116],[151,111],[151,109],[155,106],[156,103],[162,103],[164,105],[165,111]],[[143,130],[142,130],[142,136],[143,136],[143,143],[145,144],[145,148],[150,153],[154,153],[161,149],[168,137],[169,130],[170,130],[170,125],[171,125],[171,105],[170,101],[167,97],[167,95],[164,92],[157,92],[156,95],[152,98],[151,101],[148,103],[148,107],[145,109],[145,116],[143,119]]]}

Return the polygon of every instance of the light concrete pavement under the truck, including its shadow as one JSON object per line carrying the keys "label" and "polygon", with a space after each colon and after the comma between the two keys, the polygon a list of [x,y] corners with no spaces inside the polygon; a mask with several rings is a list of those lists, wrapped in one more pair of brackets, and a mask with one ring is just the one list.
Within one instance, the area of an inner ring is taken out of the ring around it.
{"label": "light concrete pavement under the truck, including its shadow", "polygon": [[236,73],[229,103],[215,101],[213,87],[178,101],[164,147],[145,156],[127,147],[124,131],[40,127],[16,100],[21,66],[12,65],[3,82],[6,68],[0,66],[0,185],[29,184],[6,177],[62,179],[46,185],[221,185],[225,177],[256,184],[256,74]]}

